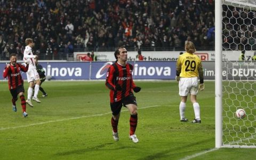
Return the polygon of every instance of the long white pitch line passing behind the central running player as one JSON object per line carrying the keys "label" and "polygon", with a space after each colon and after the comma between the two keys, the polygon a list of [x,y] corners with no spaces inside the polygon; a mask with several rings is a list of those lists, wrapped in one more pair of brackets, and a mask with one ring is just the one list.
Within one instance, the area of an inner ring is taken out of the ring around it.
{"label": "long white pitch line passing behind the central running player", "polygon": [[[140,107],[140,108],[138,108],[138,110],[140,110],[140,109],[145,109],[145,108],[151,108],[151,107],[158,107],[158,106],[161,106],[161,105]],[[163,106],[165,106],[165,105],[163,105]],[[128,110],[123,110],[123,111],[121,111],[121,112],[126,112],[126,111],[128,111]],[[112,113],[112,112],[102,113],[102,114],[94,114],[94,115],[86,115],[86,116],[78,116],[78,117],[72,117],[72,118],[69,118],[69,119],[61,119],[61,120],[40,122],[40,123],[34,123],[34,124],[28,124],[28,125],[20,125],[20,126],[17,126],[17,127],[0,128],[0,131],[8,130],[8,129],[17,129],[17,128],[23,128],[23,127],[30,127],[30,126],[34,126],[34,125],[41,125],[41,124],[52,123],[52,122],[60,122],[60,121],[68,121],[68,120],[82,119],[82,118],[87,118],[87,117],[102,116],[102,115],[111,114],[111,113]]]}

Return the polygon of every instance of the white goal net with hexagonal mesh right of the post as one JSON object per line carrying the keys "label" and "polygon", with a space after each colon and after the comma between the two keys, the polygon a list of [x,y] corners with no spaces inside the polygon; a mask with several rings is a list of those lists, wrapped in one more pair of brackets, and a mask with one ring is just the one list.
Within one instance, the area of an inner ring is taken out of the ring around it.
{"label": "white goal net with hexagonal mesh right of the post", "polygon": [[[256,148],[256,0],[222,1],[222,147]],[[245,52],[244,60],[239,54]],[[238,119],[236,110],[246,112]]]}

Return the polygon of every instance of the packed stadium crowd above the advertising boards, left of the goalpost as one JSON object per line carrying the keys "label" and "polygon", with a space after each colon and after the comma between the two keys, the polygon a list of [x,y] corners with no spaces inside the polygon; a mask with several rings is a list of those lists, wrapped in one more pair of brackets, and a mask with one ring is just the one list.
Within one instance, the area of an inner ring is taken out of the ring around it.
{"label": "packed stadium crowd above the advertising boards, left of the goalpost", "polygon": [[186,40],[214,48],[213,0],[1,0],[0,55],[22,57],[25,39],[41,59],[75,50],[183,50]]}

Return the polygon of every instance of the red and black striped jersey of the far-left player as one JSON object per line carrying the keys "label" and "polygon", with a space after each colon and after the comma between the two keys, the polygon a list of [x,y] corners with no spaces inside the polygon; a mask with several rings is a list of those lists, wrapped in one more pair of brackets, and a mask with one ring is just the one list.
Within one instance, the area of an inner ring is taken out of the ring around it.
{"label": "red and black striped jersey of the far-left player", "polygon": [[11,65],[11,63],[9,67],[5,66],[3,76],[4,78],[8,76],[9,89],[15,89],[16,87],[23,84],[23,79],[21,77],[20,71],[27,72],[28,66],[29,65],[25,67],[19,63],[16,63],[15,66]]}

